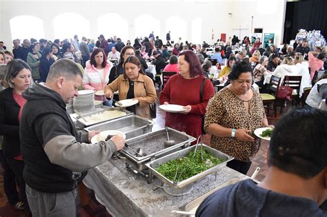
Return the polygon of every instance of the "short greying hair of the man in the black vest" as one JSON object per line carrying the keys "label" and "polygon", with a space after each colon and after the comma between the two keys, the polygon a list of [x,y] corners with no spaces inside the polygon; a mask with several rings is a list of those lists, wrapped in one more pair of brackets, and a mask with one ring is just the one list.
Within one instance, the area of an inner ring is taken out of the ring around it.
{"label": "short greying hair of the man in the black vest", "polygon": [[50,67],[48,78],[46,81],[57,79],[61,76],[68,80],[76,79],[77,76],[83,78],[83,73],[79,65],[70,59],[59,59]]}

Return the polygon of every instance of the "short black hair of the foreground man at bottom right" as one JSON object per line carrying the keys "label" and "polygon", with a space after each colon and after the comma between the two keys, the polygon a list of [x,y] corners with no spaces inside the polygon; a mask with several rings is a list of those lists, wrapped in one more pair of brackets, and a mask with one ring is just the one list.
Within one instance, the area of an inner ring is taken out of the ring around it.
{"label": "short black hair of the foreground man at bottom right", "polygon": [[327,166],[327,112],[291,110],[277,122],[269,146],[269,166],[313,178]]}

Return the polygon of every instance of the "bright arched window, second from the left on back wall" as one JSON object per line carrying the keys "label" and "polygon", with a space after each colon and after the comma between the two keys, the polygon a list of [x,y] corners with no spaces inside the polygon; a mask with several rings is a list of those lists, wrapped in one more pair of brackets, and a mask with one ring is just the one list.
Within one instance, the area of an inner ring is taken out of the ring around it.
{"label": "bright arched window, second from the left on back wall", "polygon": [[90,37],[90,21],[81,14],[74,12],[59,14],[53,21],[55,39],[73,39],[77,34],[81,37]]}

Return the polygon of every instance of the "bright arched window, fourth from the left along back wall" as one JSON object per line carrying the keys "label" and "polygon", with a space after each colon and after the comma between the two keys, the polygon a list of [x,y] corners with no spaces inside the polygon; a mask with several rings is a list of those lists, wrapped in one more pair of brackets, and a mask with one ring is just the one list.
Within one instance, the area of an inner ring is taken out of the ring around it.
{"label": "bright arched window, fourth from the left along back wall", "polygon": [[149,37],[152,31],[155,37],[160,35],[159,19],[148,14],[143,14],[135,19],[135,37]]}

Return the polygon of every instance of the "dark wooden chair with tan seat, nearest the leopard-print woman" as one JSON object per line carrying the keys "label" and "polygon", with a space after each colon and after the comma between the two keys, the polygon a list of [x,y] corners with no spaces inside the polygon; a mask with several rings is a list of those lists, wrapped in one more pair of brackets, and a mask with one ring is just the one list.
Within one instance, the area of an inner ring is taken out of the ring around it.
{"label": "dark wooden chair with tan seat, nearest the leopard-print woman", "polygon": [[275,111],[275,118],[277,117],[277,93],[278,93],[278,88],[281,83],[281,78],[278,76],[271,76],[270,82],[269,82],[269,87],[268,89],[270,92],[273,94],[260,94],[261,99],[264,103],[264,105],[267,105],[267,114],[269,114],[269,105],[270,103],[273,103],[274,111]]}

